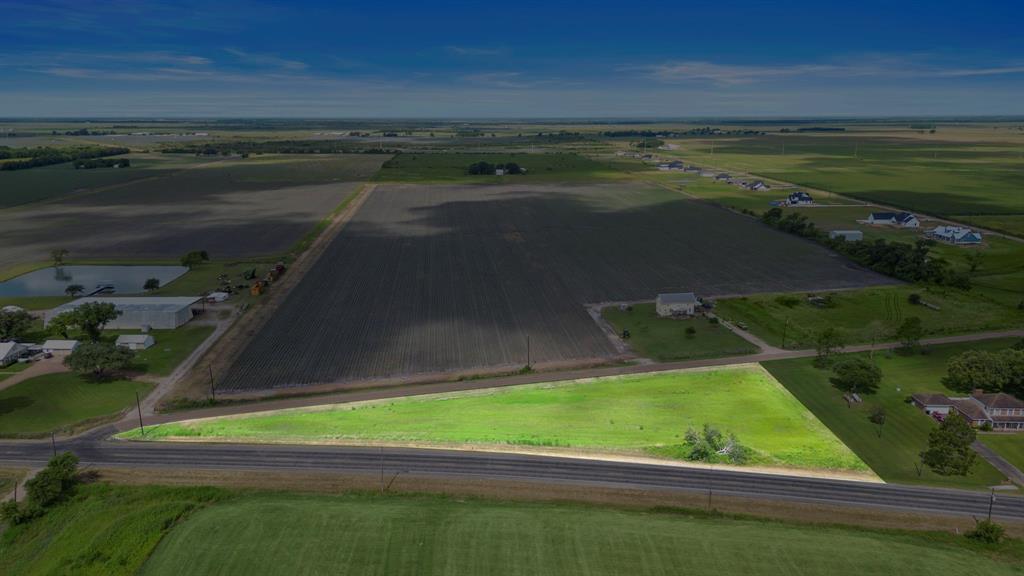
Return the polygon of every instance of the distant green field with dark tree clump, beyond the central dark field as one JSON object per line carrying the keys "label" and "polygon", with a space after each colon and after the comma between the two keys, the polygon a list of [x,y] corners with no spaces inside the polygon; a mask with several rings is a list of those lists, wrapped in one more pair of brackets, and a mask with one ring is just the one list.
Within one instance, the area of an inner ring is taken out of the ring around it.
{"label": "distant green field with dark tree clump, beyond the central dark field", "polygon": [[[469,175],[466,170],[474,162],[505,164],[515,162],[526,168],[525,174],[495,176]],[[437,153],[399,154],[384,163],[378,181],[398,182],[466,182],[466,183],[530,183],[622,178],[625,174],[613,161],[598,162],[575,154],[496,154]]]}

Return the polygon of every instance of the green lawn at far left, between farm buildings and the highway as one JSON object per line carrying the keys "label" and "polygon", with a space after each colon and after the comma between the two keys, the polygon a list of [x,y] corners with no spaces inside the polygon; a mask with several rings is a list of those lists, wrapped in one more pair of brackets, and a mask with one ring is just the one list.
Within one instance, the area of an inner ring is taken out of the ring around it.
{"label": "green lawn at far left, between farm buildings and the highway", "polygon": [[38,437],[114,416],[145,396],[139,381],[89,382],[72,373],[46,374],[0,390],[0,437]]}

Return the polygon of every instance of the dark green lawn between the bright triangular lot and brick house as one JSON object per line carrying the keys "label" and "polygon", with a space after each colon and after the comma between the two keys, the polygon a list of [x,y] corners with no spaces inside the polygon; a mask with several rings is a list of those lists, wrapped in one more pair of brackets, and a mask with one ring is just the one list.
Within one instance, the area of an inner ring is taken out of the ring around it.
{"label": "dark green lawn between the bright triangular lot and brick house", "polygon": [[[831,372],[815,368],[812,359],[766,362],[764,367],[886,482],[983,488],[998,484],[1004,477],[980,458],[967,477],[942,477],[924,466],[918,475],[918,454],[928,445],[928,433],[936,424],[905,400],[919,392],[954,394],[941,382],[949,358],[969,348],[998,349],[1011,343],[987,340],[930,346],[928,355],[909,357],[876,354],[882,385],[878,394],[865,396],[863,404],[853,408],[829,384]],[[881,436],[880,427],[868,420],[876,406],[886,410]]]}

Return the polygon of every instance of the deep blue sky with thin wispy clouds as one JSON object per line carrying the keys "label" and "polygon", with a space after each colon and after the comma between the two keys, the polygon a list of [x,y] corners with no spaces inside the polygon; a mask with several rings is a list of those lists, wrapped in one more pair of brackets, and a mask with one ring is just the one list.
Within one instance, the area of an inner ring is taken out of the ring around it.
{"label": "deep blue sky with thin wispy clouds", "polygon": [[0,117],[1024,114],[1013,0],[0,0]]}

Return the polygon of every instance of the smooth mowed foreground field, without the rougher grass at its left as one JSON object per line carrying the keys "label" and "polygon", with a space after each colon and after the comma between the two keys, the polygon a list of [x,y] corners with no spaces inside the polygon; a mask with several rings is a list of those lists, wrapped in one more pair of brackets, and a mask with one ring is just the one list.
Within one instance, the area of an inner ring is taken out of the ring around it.
{"label": "smooth mowed foreground field, without the rougher grass at its left", "polygon": [[200,510],[140,574],[1018,573],[945,543],[568,504],[268,495]]}

